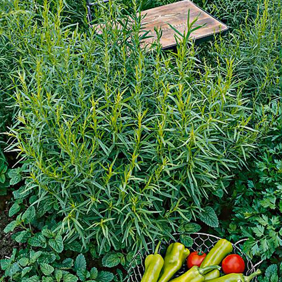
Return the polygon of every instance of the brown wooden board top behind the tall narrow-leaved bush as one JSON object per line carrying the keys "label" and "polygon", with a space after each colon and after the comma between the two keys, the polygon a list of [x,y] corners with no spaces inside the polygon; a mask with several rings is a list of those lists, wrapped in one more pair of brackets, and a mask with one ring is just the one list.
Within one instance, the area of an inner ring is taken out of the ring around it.
{"label": "brown wooden board top behind the tall narrow-leaved bush", "polygon": [[[149,31],[147,36],[151,36],[150,38],[144,39],[143,44],[149,46],[152,42],[154,42],[157,37],[154,27],[157,29],[161,27],[163,35],[160,39],[160,43],[162,44],[163,48],[169,48],[176,45],[175,31],[171,29],[169,24],[183,34],[184,30],[187,30],[187,18],[189,10],[190,22],[198,17],[195,25],[202,26],[200,29],[195,30],[191,34],[191,38],[195,40],[211,39],[213,34],[219,32],[224,33],[227,31],[228,27],[225,24],[199,8],[190,0],[184,0],[141,12],[143,25],[142,32]],[[96,25],[98,33],[100,27],[101,25]]]}

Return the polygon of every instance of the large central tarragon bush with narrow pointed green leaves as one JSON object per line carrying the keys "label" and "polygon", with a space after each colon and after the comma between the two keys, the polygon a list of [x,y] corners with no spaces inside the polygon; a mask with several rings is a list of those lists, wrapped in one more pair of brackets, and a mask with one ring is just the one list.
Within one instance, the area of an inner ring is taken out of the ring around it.
{"label": "large central tarragon bush with narrow pointed green leaves", "polygon": [[11,145],[29,165],[22,193],[38,195],[34,206],[52,203],[65,238],[95,238],[100,250],[146,245],[192,216],[217,226],[201,200],[223,195],[257,136],[233,60],[200,64],[185,42],[145,53],[138,18],[98,36],[65,26],[63,2],[50,3],[2,15],[10,44],[29,40]]}

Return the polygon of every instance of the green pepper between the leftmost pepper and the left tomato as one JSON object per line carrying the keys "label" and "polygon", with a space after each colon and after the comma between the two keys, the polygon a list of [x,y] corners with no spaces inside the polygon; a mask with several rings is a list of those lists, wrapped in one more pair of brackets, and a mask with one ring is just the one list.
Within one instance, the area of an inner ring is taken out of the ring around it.
{"label": "green pepper between the leftmost pepper and the left tomato", "polygon": [[172,243],[166,250],[164,268],[158,282],[167,282],[182,267],[190,251],[180,243]]}

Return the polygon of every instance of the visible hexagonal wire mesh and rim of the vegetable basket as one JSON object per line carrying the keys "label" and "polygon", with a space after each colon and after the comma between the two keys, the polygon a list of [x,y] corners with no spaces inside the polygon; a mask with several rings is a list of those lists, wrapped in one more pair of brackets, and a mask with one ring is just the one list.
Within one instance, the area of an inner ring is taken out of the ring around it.
{"label": "visible hexagonal wire mesh and rim of the vegetable basket", "polygon": [[[193,244],[192,246],[189,248],[190,250],[194,250],[196,251],[196,249],[199,249],[199,247],[201,247],[202,245],[206,246],[206,241],[210,242],[211,245],[209,247],[207,247],[208,251],[210,248],[212,248],[215,243],[217,243],[218,240],[222,239],[218,236],[212,235],[212,234],[206,234],[206,233],[201,233],[201,232],[197,232],[197,233],[192,233],[192,234],[188,234],[188,233],[174,233],[173,236],[180,236],[180,235],[189,235],[193,238]],[[203,241],[203,243],[201,244],[201,246],[199,246],[199,244],[197,243],[197,240]],[[253,272],[255,272],[255,267],[258,265],[253,265],[252,261],[248,258],[248,256],[238,247],[239,243],[242,243],[244,241],[246,241],[248,239],[243,239],[240,240],[236,243],[232,243],[233,246],[233,251],[232,253],[240,253],[243,255],[244,261],[246,262],[246,270],[245,270],[245,275],[250,275]],[[179,240],[175,240],[175,242],[177,242]],[[156,246],[156,242],[154,246]],[[170,244],[172,243],[173,240],[170,240],[169,242],[162,242],[164,244],[161,244],[161,249],[164,248],[164,245]],[[129,270],[128,270],[128,275],[125,279],[125,281],[127,282],[140,282],[142,279],[142,275],[144,273],[144,258],[145,256],[147,256],[150,251],[152,251],[152,243],[148,243],[147,247],[149,249],[149,252],[144,252],[145,248],[142,248],[138,251],[138,253],[135,254],[135,256],[133,257],[132,262],[129,265]],[[140,264],[138,264],[138,259]],[[141,261],[140,261],[141,259]],[[185,271],[187,271],[187,269],[184,270],[185,267],[183,267],[180,271],[179,271],[179,275],[181,275],[182,273],[184,273]],[[177,276],[177,275],[176,275]],[[253,278],[252,282],[257,282],[257,278]]]}

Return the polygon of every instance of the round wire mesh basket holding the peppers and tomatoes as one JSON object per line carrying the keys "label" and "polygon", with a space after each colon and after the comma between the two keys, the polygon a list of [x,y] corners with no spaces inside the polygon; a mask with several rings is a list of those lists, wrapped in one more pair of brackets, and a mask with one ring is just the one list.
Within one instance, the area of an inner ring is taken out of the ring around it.
{"label": "round wire mesh basket holding the peppers and tomatoes", "polygon": [[[181,233],[183,234],[183,233]],[[187,234],[188,235],[188,234]],[[209,252],[212,247],[217,243],[218,240],[221,238],[214,236],[214,235],[209,235],[205,233],[193,233],[189,234],[189,236],[192,237],[193,239],[193,244],[189,248],[191,251],[198,251],[202,250],[205,252]],[[180,234],[175,234],[174,235],[176,241],[179,241]],[[253,272],[255,272],[255,267],[257,265],[253,265],[251,260],[240,250],[238,247],[238,243],[242,242],[244,240],[241,240],[235,244],[232,244],[233,246],[233,252],[232,253],[237,253],[240,254],[246,264],[246,269],[245,269],[245,275],[250,275]],[[170,240],[169,243],[164,243],[160,245],[159,253],[164,257],[165,251],[170,243],[173,243],[172,240]],[[145,257],[152,253],[152,244],[148,245],[149,252],[146,252],[143,249],[141,249],[133,258],[132,263],[130,264],[129,271],[128,271],[128,276],[127,276],[127,281],[128,282],[140,282],[142,279],[142,275],[144,274],[144,259]],[[156,244],[155,244],[156,245]],[[187,268],[185,265],[175,274],[175,277],[180,276],[181,274],[185,273],[187,271]],[[252,282],[257,282],[257,278],[253,278]]]}

